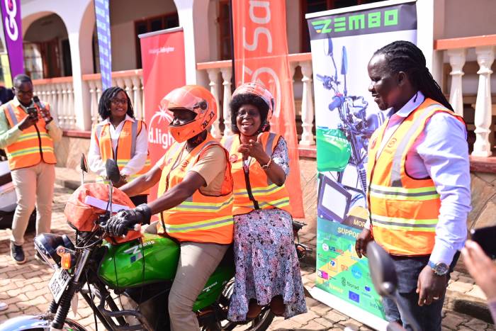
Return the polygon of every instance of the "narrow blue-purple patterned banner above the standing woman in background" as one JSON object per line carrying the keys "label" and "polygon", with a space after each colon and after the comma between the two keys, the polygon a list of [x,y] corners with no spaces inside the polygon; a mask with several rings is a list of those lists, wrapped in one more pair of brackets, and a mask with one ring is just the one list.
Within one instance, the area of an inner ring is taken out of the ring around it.
{"label": "narrow blue-purple patterned banner above the standing woman in background", "polygon": [[101,85],[105,90],[112,86],[111,19],[108,13],[108,0],[95,0],[94,3]]}

